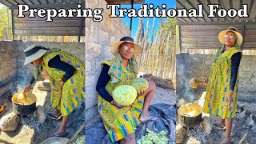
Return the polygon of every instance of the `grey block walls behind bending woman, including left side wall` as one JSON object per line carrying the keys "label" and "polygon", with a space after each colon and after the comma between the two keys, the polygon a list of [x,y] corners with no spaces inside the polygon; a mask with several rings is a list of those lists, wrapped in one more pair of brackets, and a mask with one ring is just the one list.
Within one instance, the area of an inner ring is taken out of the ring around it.
{"label": "grey block walls behind bending woman, including left side wall", "polygon": [[[25,61],[24,50],[27,46],[36,44],[38,46],[45,46],[47,48],[58,47],[62,50],[76,54],[78,58],[85,63],[85,43],[72,43],[72,42],[22,42],[22,41],[10,41],[10,42],[0,42],[0,50],[2,52],[0,57],[1,70],[0,70],[0,83],[6,87],[8,83],[5,84],[6,78],[15,79],[13,82],[17,84],[18,90],[24,89],[26,84],[30,81],[32,76],[33,66],[28,64],[23,65]],[[8,85],[8,87],[10,87]],[[15,90],[15,89],[13,89]],[[0,95],[4,94],[0,91]]]}

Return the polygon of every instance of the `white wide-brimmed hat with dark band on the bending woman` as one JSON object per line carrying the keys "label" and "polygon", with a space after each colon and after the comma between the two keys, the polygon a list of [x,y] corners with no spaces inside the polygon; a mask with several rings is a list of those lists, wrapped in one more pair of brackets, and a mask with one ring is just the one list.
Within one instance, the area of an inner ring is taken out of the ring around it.
{"label": "white wide-brimmed hat with dark band on the bending woman", "polygon": [[43,54],[46,54],[47,50],[49,50],[49,49],[42,47],[42,46],[36,46],[35,44],[28,46],[24,50],[24,53],[26,55],[24,65],[26,65],[30,62],[33,62],[34,60],[37,60],[38,58],[41,58]]}

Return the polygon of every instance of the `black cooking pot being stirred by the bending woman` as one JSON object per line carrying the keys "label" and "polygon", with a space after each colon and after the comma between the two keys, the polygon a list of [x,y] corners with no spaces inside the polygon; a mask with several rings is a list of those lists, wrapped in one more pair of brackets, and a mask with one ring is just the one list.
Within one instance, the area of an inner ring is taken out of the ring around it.
{"label": "black cooking pot being stirred by the bending woman", "polygon": [[12,98],[14,112],[20,115],[34,113],[34,110],[36,110],[36,96],[30,92],[26,92],[26,98],[20,101],[20,94],[23,93],[19,92],[17,94],[14,94]]}

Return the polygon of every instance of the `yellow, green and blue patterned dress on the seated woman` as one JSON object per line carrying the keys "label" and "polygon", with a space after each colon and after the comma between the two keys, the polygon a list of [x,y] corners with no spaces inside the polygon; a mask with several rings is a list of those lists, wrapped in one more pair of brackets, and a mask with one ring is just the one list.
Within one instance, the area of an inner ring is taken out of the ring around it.
{"label": "yellow, green and blue patterned dress on the seated woman", "polygon": [[[115,75],[117,76],[114,77],[112,75],[110,81],[106,84],[105,88],[110,95],[112,95],[115,87],[129,85],[130,80],[135,78],[134,71],[131,69],[132,65],[129,65],[126,70],[126,68],[122,66],[122,60],[117,57],[110,61],[102,62],[102,66],[103,64],[110,66],[108,74],[114,75],[114,73],[116,73]],[[134,58],[132,61],[135,62]],[[134,67],[137,68],[137,66]],[[118,142],[122,138],[126,138],[128,134],[134,133],[135,127],[140,124],[138,117],[142,112],[142,106],[142,96],[138,96],[132,106],[117,107],[98,95],[98,112],[102,117],[105,129],[110,135],[112,142]]]}

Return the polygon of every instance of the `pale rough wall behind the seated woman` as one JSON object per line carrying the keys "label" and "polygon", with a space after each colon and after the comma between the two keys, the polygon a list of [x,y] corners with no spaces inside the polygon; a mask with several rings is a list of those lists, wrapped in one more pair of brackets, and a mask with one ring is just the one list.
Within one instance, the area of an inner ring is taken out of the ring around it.
{"label": "pale rough wall behind the seated woman", "polygon": [[98,93],[96,83],[101,72],[100,64],[112,58],[110,45],[123,36],[130,35],[130,30],[120,18],[110,18],[110,10],[106,10],[106,1],[86,1],[91,9],[102,7],[102,22],[94,22],[86,18],[86,109],[97,104]]}

